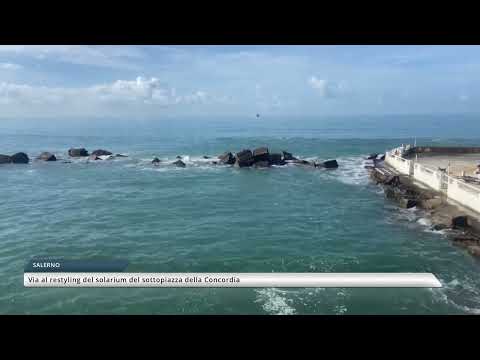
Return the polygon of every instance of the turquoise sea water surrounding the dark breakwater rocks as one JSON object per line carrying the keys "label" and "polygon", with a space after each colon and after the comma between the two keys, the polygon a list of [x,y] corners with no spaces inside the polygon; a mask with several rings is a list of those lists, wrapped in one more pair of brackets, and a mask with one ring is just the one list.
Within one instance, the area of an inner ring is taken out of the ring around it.
{"label": "turquoise sea water surrounding the dark breakwater rocks", "polygon": [[[480,262],[384,199],[365,155],[476,144],[475,118],[25,120],[0,153],[104,148],[128,158],[0,167],[3,314],[471,314]],[[268,145],[333,171],[234,169],[203,155]],[[157,156],[185,169],[153,167]],[[33,256],[125,258],[145,272],[433,272],[441,289],[27,289]]]}

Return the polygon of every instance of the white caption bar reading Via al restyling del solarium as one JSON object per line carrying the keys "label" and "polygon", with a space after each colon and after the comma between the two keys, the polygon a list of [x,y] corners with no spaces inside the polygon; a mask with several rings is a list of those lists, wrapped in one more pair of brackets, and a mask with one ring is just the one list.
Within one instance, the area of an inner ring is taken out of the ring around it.
{"label": "white caption bar reading Via al restyling del solarium", "polygon": [[24,273],[26,287],[442,287],[430,273]]}

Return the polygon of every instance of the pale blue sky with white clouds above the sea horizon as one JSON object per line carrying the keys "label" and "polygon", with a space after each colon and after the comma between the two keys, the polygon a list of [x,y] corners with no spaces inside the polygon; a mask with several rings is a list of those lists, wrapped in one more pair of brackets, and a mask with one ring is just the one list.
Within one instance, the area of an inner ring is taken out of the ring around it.
{"label": "pale blue sky with white clouds above the sea horizon", "polygon": [[479,46],[0,45],[0,118],[480,112]]}

